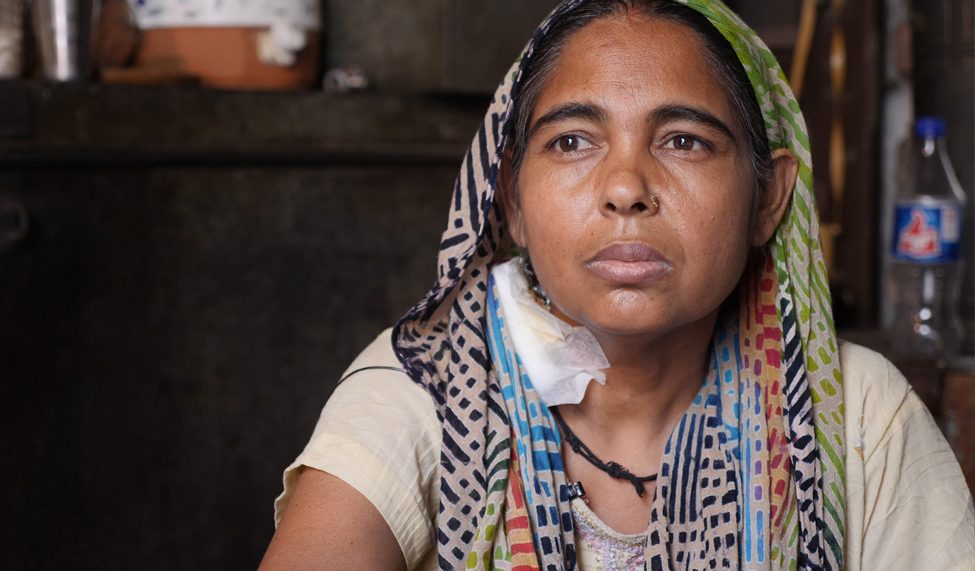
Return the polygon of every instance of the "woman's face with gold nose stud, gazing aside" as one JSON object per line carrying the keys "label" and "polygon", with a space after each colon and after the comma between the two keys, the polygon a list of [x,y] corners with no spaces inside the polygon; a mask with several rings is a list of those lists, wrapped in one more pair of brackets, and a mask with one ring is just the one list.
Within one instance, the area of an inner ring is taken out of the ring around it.
{"label": "woman's face with gold nose stud, gazing aside", "polygon": [[597,336],[713,327],[753,243],[754,181],[694,32],[589,24],[530,125],[511,232],[553,305]]}

